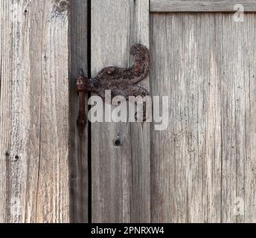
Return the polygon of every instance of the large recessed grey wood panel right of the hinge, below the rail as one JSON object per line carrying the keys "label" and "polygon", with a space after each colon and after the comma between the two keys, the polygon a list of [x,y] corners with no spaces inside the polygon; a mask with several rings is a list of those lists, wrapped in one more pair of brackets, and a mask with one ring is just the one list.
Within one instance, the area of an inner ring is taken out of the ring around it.
{"label": "large recessed grey wood panel right of the hinge, below the rail", "polygon": [[[255,14],[153,14],[152,222],[256,222]],[[240,210],[237,210],[240,208]]]}

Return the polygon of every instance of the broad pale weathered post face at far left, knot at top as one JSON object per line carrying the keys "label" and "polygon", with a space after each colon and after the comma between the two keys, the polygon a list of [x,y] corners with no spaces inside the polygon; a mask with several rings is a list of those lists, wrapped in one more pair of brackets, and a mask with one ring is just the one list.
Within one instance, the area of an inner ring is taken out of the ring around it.
{"label": "broad pale weathered post face at far left, knot at top", "polygon": [[69,221],[68,6],[0,1],[0,222]]}

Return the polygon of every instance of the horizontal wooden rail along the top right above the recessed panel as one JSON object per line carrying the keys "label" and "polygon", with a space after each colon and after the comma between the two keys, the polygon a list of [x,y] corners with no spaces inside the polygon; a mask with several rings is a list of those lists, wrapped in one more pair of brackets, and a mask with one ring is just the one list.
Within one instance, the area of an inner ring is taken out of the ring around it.
{"label": "horizontal wooden rail along the top right above the recessed panel", "polygon": [[151,12],[234,12],[242,4],[244,12],[256,12],[253,0],[150,0]]}

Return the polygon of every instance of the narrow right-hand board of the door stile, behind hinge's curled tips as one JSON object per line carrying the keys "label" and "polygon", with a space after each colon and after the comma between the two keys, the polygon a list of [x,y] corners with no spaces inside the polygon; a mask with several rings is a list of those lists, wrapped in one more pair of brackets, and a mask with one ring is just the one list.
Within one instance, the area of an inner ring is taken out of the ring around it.
{"label": "narrow right-hand board of the door stile, behind hinge's curled tips", "polygon": [[[150,48],[149,1],[134,1],[132,42]],[[150,92],[150,76],[138,83]],[[150,123],[130,123],[132,151],[131,222],[150,222]]]}

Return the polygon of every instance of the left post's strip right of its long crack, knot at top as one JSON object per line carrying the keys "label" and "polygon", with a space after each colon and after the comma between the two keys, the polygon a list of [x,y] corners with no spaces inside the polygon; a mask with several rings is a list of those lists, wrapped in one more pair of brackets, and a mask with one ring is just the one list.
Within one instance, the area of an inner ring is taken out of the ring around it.
{"label": "left post's strip right of its long crack, knot at top", "polygon": [[45,1],[37,222],[69,221],[68,1]]}

